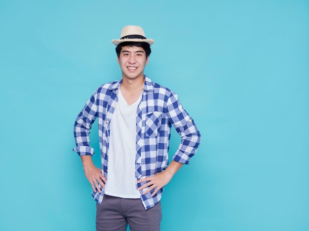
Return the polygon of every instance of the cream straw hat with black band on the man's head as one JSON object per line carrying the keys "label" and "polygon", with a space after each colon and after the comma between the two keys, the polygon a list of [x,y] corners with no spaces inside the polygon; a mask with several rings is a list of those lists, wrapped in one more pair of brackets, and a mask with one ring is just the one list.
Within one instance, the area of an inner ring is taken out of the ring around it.
{"label": "cream straw hat with black band on the man's head", "polygon": [[120,39],[113,39],[112,42],[118,46],[121,42],[147,42],[154,44],[154,39],[146,38],[143,28],[139,26],[125,26],[120,33]]}

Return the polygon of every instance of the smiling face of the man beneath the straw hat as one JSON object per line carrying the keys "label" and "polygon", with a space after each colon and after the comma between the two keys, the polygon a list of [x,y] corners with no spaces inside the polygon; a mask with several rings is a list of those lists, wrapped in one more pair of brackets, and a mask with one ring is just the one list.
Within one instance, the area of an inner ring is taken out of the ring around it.
{"label": "smiling face of the man beneath the straw hat", "polygon": [[143,78],[144,68],[148,64],[149,57],[146,57],[142,47],[123,46],[117,61],[122,70],[122,78],[133,80]]}

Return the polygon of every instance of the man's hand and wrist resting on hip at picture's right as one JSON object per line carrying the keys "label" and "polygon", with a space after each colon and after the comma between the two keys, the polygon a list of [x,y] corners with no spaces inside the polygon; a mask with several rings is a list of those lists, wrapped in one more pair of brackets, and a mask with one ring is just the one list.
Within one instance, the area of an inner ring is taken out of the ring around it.
{"label": "man's hand and wrist resting on hip at picture's right", "polygon": [[137,183],[142,183],[148,181],[146,184],[143,186],[139,187],[137,190],[141,191],[147,187],[149,187],[145,192],[143,192],[143,195],[149,193],[150,191],[154,190],[154,193],[151,195],[154,197],[154,195],[165,185],[170,182],[174,174],[178,171],[178,169],[182,166],[183,164],[180,164],[178,162],[172,161],[170,165],[166,168],[165,171],[159,172],[155,174],[154,176],[151,177],[146,177],[143,179],[140,179],[137,181]]}

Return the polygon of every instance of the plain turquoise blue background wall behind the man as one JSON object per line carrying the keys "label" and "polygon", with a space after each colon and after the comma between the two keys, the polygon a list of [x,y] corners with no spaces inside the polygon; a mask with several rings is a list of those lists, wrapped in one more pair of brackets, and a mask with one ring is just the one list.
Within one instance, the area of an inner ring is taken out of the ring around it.
{"label": "plain turquoise blue background wall behind the man", "polygon": [[73,124],[121,77],[125,25],[154,38],[145,72],[202,134],[165,189],[162,231],[308,231],[307,0],[2,0],[0,230],[95,229]]}

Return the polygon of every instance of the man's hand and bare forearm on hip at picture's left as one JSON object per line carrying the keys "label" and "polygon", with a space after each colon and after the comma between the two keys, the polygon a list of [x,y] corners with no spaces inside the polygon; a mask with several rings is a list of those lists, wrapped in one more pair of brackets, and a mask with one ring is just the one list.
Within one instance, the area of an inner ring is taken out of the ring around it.
{"label": "man's hand and bare forearm on hip at picture's left", "polygon": [[99,184],[105,188],[106,178],[103,176],[101,169],[94,166],[90,156],[81,156],[85,176],[88,179],[94,192],[98,190],[101,193]]}

